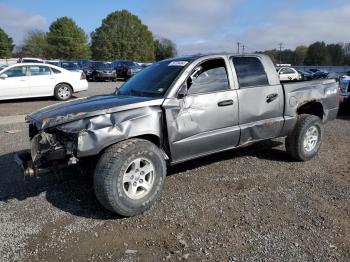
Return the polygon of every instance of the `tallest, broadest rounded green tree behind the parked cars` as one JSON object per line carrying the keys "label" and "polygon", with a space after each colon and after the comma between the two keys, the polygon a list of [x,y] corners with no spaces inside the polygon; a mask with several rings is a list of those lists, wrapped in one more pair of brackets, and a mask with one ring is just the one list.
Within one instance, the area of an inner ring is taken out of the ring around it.
{"label": "tallest, broadest rounded green tree behind the parked cars", "polygon": [[154,61],[153,35],[141,20],[127,10],[109,14],[91,34],[94,59]]}

